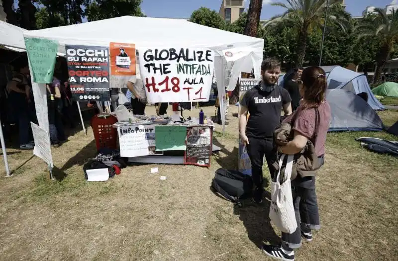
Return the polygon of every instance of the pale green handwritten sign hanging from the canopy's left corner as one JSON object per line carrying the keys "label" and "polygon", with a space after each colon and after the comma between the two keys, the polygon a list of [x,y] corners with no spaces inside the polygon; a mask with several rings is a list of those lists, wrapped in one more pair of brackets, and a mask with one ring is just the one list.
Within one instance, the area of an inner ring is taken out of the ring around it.
{"label": "pale green handwritten sign hanging from the canopy's left corner", "polygon": [[33,73],[33,82],[52,83],[58,42],[40,38],[25,38],[25,46]]}

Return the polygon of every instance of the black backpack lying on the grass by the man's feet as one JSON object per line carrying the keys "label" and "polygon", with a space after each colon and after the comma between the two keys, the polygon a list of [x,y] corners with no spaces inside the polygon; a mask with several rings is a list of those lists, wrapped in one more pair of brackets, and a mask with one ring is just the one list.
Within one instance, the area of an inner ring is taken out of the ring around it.
{"label": "black backpack lying on the grass by the man's feet", "polygon": [[211,186],[225,199],[241,205],[239,199],[251,196],[253,180],[249,175],[238,171],[218,169],[215,172]]}

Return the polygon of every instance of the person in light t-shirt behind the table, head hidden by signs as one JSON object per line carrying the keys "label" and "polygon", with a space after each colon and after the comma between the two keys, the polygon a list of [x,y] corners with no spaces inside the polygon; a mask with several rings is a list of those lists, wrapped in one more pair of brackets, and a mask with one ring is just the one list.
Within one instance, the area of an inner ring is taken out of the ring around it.
{"label": "person in light t-shirt behind the table, head hidden by signs", "polygon": [[145,115],[146,94],[141,80],[139,67],[136,75],[133,75],[127,82],[127,88],[131,91],[131,108],[135,115]]}

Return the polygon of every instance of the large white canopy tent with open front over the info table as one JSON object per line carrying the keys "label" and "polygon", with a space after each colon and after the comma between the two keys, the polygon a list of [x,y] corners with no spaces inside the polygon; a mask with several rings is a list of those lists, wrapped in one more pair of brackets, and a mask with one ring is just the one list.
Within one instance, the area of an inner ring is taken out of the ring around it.
{"label": "large white canopy tent with open front over the info table", "polygon": [[[236,53],[238,60],[235,60],[234,68],[239,67],[248,72],[254,68],[254,73],[259,75],[264,47],[264,39],[223,31],[183,19],[134,16],[25,31],[23,35],[29,38],[56,40],[59,43],[58,52],[63,54],[66,44],[109,46],[109,42],[134,43],[138,51],[149,46],[212,49],[215,52],[215,77],[220,101],[221,96],[225,97],[225,87],[231,84],[225,81],[225,52],[231,50],[228,52],[228,59],[231,60],[231,54],[233,56],[236,50],[244,49],[244,55]],[[250,70],[247,66],[249,60]],[[237,81],[237,76],[235,78]],[[39,125],[48,131],[45,85],[32,83],[32,87]],[[220,106],[221,111],[224,111],[222,102]],[[221,114],[224,125],[224,113]]]}

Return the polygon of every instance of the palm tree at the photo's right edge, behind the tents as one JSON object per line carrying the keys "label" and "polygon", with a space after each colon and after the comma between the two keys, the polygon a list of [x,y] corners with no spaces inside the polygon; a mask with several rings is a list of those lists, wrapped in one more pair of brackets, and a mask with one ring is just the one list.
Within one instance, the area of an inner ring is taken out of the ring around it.
{"label": "palm tree at the photo's right edge, behind the tents", "polygon": [[364,19],[356,28],[360,33],[359,38],[366,36],[377,37],[381,48],[376,57],[376,72],[373,83],[378,83],[390,55],[394,52],[394,45],[398,43],[398,10],[386,14],[383,9],[375,8],[376,14],[371,14],[370,19]]}

